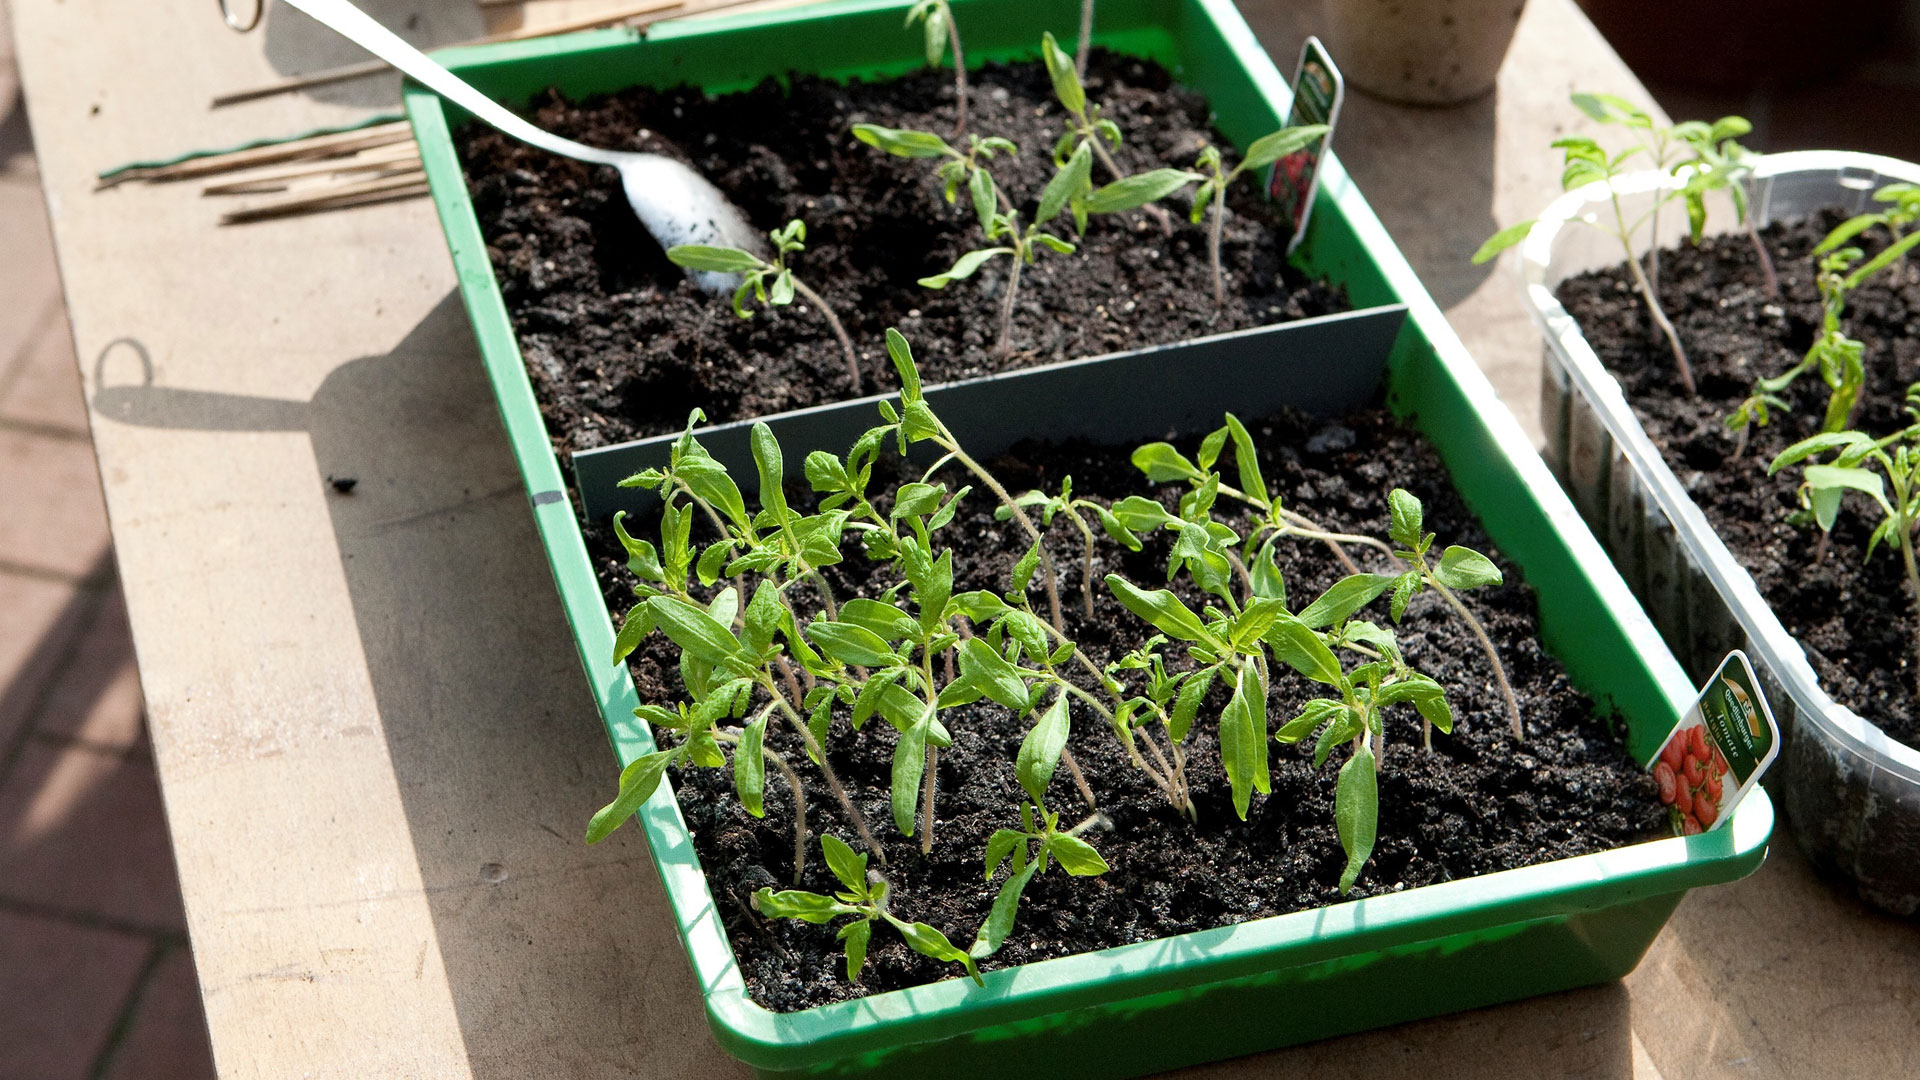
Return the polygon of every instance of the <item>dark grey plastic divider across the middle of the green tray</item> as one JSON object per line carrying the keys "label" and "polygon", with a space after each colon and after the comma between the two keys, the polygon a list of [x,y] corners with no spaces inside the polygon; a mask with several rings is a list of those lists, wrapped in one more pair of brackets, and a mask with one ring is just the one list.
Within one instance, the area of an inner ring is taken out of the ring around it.
{"label": "dark grey plastic divider across the middle of the green tray", "polygon": [[[1190,436],[1219,427],[1225,411],[1252,419],[1294,405],[1329,415],[1365,404],[1380,386],[1405,315],[1404,304],[1367,307],[945,382],[927,386],[925,396],[975,457],[1029,438],[1114,446]],[[893,379],[891,367],[885,377]],[[860,432],[881,423],[881,398],[897,394],[766,417],[785,452],[787,475],[799,475],[801,459],[814,450],[845,454]],[[753,421],[695,430],[743,490],[758,484],[751,430]],[[641,469],[666,465],[676,438],[659,434],[574,454],[588,521],[620,509],[634,515],[653,509],[659,502],[653,492],[618,484]]]}

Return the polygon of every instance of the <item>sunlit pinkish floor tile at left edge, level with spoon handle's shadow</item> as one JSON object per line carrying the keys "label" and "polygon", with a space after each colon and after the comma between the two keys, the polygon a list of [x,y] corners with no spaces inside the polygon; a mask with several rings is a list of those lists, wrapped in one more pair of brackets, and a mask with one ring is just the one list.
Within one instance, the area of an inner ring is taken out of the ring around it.
{"label": "sunlit pinkish floor tile at left edge, level with spoon handle's shadow", "polygon": [[92,442],[0,429],[0,557],[73,577],[94,571],[108,550],[108,511]]}

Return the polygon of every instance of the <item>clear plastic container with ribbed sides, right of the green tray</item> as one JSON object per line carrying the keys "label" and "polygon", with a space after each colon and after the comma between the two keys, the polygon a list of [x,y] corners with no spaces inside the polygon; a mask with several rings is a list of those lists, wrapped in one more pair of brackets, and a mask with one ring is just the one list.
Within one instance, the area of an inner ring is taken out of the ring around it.
{"label": "clear plastic container with ribbed sides, right of the green tray", "polygon": [[[1876,208],[1872,192],[1920,183],[1920,165],[1845,152],[1772,154],[1757,169],[1759,223],[1805,217],[1828,206]],[[1615,183],[1628,219],[1674,177],[1647,171]],[[1705,678],[1730,650],[1745,650],[1788,732],[1780,774],[1793,838],[1826,871],[1851,878],[1868,903],[1895,915],[1920,911],[1920,751],[1887,738],[1870,717],[1834,701],[1807,655],[1761,598],[1753,577],[1707,525],[1680,479],[1634,417],[1620,384],[1601,367],[1580,325],[1555,300],[1571,275],[1617,265],[1619,242],[1599,229],[1571,229],[1588,213],[1611,215],[1607,186],[1565,194],[1540,215],[1521,246],[1526,302],[1548,340],[1542,377],[1546,457],[1580,515],[1613,555],[1628,586],[1680,663]],[[1665,213],[1674,236],[1684,211]],[[1709,221],[1732,221],[1726,208]]]}

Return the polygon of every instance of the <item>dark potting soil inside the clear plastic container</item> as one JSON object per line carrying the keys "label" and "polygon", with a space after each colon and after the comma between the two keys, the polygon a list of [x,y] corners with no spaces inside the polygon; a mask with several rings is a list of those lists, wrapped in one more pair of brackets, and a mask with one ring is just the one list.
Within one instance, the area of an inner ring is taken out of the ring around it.
{"label": "dark potting soil inside the clear plastic container", "polygon": [[[1920,748],[1912,648],[1920,626],[1899,552],[1884,546],[1864,559],[1878,509],[1866,496],[1849,494],[1832,540],[1822,542],[1818,527],[1788,523],[1799,509],[1801,471],[1766,475],[1776,454],[1820,430],[1826,382],[1818,373],[1801,377],[1784,394],[1793,409],[1776,411],[1743,452],[1724,425],[1755,379],[1797,363],[1820,332],[1807,252],[1841,219],[1826,211],[1763,233],[1780,275],[1778,300],[1766,294],[1743,234],[1661,252],[1659,296],[1693,365],[1695,398],[1682,390],[1672,354],[1630,290],[1624,263],[1565,281],[1559,298],[1620,380],[1674,475],[1805,646],[1820,686],[1889,736]],[[1864,240],[1868,254],[1885,246],[1885,236]],[[1907,386],[1920,379],[1920,269],[1908,269],[1899,286],[1884,271],[1855,290],[1845,331],[1866,342],[1866,388],[1855,425],[1874,434],[1905,427]]]}

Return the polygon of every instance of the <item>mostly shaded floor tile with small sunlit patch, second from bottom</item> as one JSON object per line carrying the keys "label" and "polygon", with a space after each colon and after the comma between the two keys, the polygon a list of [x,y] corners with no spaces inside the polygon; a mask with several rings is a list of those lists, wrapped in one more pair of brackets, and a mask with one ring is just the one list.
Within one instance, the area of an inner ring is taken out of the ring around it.
{"label": "mostly shaded floor tile with small sunlit patch, second from bottom", "polygon": [[29,740],[0,780],[0,897],[184,930],[152,763]]}

